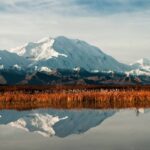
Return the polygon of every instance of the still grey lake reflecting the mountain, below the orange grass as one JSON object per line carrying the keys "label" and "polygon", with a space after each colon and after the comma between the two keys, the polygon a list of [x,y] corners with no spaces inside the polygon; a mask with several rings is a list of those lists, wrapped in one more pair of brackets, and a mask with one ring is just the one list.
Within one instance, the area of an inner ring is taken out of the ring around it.
{"label": "still grey lake reflecting the mountain, below the orange grass", "polygon": [[0,150],[149,150],[150,109],[0,111]]}

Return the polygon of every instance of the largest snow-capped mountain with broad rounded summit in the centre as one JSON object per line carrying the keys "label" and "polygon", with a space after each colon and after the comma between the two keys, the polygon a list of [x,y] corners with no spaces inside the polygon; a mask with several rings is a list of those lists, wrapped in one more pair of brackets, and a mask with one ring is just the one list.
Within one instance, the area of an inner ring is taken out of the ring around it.
{"label": "largest snow-capped mountain with broad rounded summit in the centre", "polygon": [[84,41],[68,39],[63,36],[44,38],[30,42],[21,47],[11,49],[13,53],[32,61],[29,67],[49,69],[84,68],[88,71],[125,71],[129,66],[119,63],[99,48]]}

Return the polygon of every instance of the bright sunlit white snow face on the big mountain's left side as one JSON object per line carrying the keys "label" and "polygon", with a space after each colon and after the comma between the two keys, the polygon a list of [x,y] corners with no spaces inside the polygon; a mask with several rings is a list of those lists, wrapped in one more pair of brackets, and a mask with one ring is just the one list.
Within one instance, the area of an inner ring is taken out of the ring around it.
{"label": "bright sunlit white snow face on the big mountain's left side", "polygon": [[30,42],[24,46],[11,49],[10,51],[33,61],[47,60],[59,56],[67,57],[53,49],[54,42],[54,39],[48,37],[37,42]]}

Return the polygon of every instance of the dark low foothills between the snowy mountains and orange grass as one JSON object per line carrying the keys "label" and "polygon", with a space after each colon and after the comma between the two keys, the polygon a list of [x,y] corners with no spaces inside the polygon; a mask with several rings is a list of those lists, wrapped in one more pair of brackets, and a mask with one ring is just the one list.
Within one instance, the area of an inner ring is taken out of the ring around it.
{"label": "dark low foothills between the snowy mountains and orange grass", "polygon": [[[13,80],[12,80],[13,79]],[[55,69],[26,72],[0,70],[1,85],[137,85],[150,84],[150,76],[117,72]]]}

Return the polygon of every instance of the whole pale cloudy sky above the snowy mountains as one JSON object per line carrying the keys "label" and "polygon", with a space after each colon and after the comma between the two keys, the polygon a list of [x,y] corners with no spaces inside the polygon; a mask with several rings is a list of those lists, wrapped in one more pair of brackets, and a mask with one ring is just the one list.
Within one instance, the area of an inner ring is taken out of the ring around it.
{"label": "whole pale cloudy sky above the snowy mountains", "polygon": [[0,0],[0,49],[79,38],[122,62],[150,56],[150,0]]}

